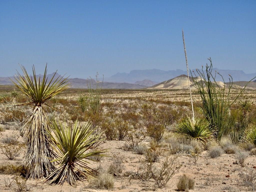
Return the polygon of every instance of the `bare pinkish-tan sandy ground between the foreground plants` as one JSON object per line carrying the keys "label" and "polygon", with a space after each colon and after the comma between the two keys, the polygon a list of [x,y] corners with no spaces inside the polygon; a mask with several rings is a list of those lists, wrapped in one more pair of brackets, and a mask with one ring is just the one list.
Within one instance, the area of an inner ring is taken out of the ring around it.
{"label": "bare pinkish-tan sandy ground between the foreground plants", "polygon": [[[1,140],[4,137],[15,134],[17,131],[4,130],[0,132]],[[20,137],[18,141],[22,142],[24,138]],[[252,167],[256,165],[255,156],[249,156],[246,159],[246,166],[241,167],[240,165],[233,164],[235,162],[235,155],[223,154],[218,158],[210,158],[207,155],[207,151],[204,151],[200,154],[197,164],[195,165],[190,161],[190,157],[187,155],[178,155],[179,163],[182,164],[179,172],[169,180],[167,185],[158,189],[155,186],[153,180],[148,182],[142,182],[140,180],[130,180],[125,176],[126,172],[133,171],[137,172],[138,167],[141,165],[141,155],[136,154],[132,151],[125,151],[122,149],[125,141],[106,141],[101,145],[102,148],[110,148],[111,154],[118,158],[123,159],[124,169],[121,174],[121,177],[115,177],[114,188],[110,191],[120,191],[120,192],[129,192],[129,191],[176,191],[176,184],[179,177],[186,173],[195,179],[196,185],[193,190],[190,191],[250,191],[249,188],[244,187],[239,182],[238,173],[242,170],[251,170]],[[146,141],[145,144],[148,142]],[[24,154],[24,153],[23,153]],[[17,157],[15,160],[8,160],[7,157],[3,154],[0,154],[0,164],[23,161],[23,154]],[[167,151],[165,156],[170,155]],[[164,157],[161,158],[162,161]],[[94,163],[92,166],[100,164],[103,168],[107,168],[112,157],[103,157],[101,162]],[[255,170],[256,171],[256,170]],[[229,178],[226,176],[230,175]],[[5,187],[5,180],[11,180],[12,175],[0,175],[0,191],[16,191],[16,185],[13,184],[11,187]],[[46,183],[43,183],[41,180],[28,180],[27,186],[30,188],[30,191],[108,191],[102,189],[92,189],[88,187],[88,181],[79,182],[77,187],[69,186],[65,183],[63,186],[53,185],[49,186]]]}

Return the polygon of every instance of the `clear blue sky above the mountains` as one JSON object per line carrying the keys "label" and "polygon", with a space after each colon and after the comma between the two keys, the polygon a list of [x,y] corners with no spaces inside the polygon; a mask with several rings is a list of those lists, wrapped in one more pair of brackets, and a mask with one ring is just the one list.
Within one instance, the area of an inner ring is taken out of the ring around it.
{"label": "clear blue sky above the mountains", "polygon": [[256,72],[256,1],[0,1],[0,76],[133,69]]}

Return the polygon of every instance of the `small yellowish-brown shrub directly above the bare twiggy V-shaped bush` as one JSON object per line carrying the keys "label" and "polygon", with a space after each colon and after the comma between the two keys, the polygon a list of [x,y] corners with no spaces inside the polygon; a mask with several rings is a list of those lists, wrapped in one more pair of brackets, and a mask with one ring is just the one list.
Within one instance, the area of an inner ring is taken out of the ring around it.
{"label": "small yellowish-brown shrub directly above the bare twiggy V-shaped bush", "polygon": [[150,142],[150,148],[145,151],[144,158],[147,162],[156,162],[163,154],[164,150],[152,140]]}

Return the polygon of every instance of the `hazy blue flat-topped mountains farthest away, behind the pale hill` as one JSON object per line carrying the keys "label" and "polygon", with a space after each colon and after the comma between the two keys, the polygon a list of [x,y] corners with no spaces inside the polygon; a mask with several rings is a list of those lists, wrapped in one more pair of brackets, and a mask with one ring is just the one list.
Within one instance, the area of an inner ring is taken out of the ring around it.
{"label": "hazy blue flat-topped mountains farthest away, behind the pale hill", "polygon": [[[247,74],[241,70],[222,70],[213,68],[212,72],[215,73],[215,71],[219,72],[223,76],[225,82],[229,82],[229,74],[232,76],[233,81],[249,81],[256,76],[256,73]],[[187,74],[187,71],[183,71],[180,69],[170,71],[163,71],[159,69],[132,70],[130,73],[116,73],[109,78],[105,78],[105,80],[108,82],[134,83],[136,81],[143,81],[145,79],[149,79],[154,82],[162,82],[183,74]],[[198,74],[193,74],[193,76],[198,76]],[[216,75],[216,80],[223,81],[221,76],[218,74]]]}

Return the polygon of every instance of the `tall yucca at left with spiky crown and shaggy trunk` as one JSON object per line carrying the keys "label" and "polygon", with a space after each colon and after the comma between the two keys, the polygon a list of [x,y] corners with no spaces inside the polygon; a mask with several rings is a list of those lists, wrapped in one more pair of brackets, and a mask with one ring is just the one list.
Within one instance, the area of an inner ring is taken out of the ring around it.
{"label": "tall yucca at left with spiky crown and shaggy trunk", "polygon": [[40,179],[48,176],[54,168],[50,157],[51,150],[49,145],[49,137],[47,136],[48,118],[44,112],[45,102],[66,90],[70,84],[68,79],[61,76],[54,80],[57,73],[48,81],[46,76],[47,65],[45,67],[44,76],[36,78],[35,67],[33,66],[33,76],[29,76],[25,67],[21,66],[23,75],[17,72],[14,77],[16,82],[12,80],[15,86],[24,93],[29,102],[20,103],[19,105],[33,105],[33,113],[25,120],[23,127],[28,126],[27,151],[25,154],[25,164],[28,168],[27,177],[31,179]]}

